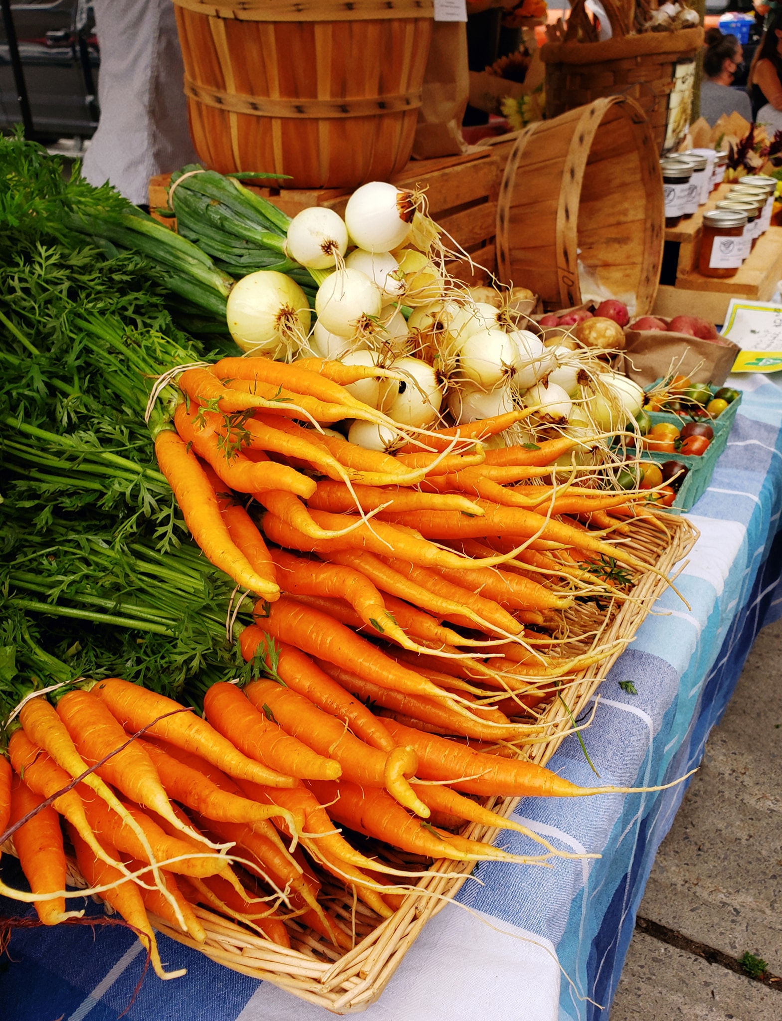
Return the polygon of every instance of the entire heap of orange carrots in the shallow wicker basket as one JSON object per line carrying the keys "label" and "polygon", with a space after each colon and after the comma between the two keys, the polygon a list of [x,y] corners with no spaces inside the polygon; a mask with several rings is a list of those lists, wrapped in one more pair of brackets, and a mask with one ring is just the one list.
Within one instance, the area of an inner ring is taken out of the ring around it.
{"label": "entire heap of orange carrots in the shallow wicker basket", "polygon": [[[257,679],[212,684],[203,718],[120,679],[21,703],[0,843],[12,837],[32,892],[0,892],[44,924],[79,914],[67,845],[161,977],[180,973],[150,916],[198,942],[217,915],[343,951],[432,861],[564,854],[475,795],[618,789],[517,756],[549,736],[546,704],[567,710],[578,673],[617,651],[565,654],[567,614],[631,598],[634,573],[654,570],[613,541],[656,523],[645,494],[558,484],[569,438],[484,447],[526,411],[400,432],[345,389],[379,372],[248,357],[179,375],[158,464],[202,551],[256,600],[254,623],[228,624]],[[396,453],[329,428],[355,419],[394,428]],[[466,823],[519,830],[540,854],[462,837]]]}

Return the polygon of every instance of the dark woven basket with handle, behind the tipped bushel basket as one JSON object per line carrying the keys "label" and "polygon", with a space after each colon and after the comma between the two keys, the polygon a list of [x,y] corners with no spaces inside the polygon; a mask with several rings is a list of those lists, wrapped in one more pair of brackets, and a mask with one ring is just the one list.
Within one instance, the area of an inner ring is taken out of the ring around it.
{"label": "dark woven basket with handle, behind the tipped bushel basket", "polygon": [[[609,16],[610,0],[604,4]],[[583,0],[574,4],[569,26],[575,32]],[[676,148],[690,120],[695,56],[703,30],[627,35],[621,17],[610,17],[614,35],[604,42],[546,43],[546,115],[556,117],[602,96],[630,96],[649,118],[657,152]]]}

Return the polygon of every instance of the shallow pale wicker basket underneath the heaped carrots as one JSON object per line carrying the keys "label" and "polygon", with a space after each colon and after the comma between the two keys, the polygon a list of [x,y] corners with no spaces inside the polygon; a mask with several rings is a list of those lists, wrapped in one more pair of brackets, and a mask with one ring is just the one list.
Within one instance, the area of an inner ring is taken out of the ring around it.
{"label": "shallow pale wicker basket underneath the heaped carrots", "polygon": [[[627,547],[664,574],[686,556],[697,533],[685,519],[671,515],[659,516],[663,526],[645,522],[637,523],[631,544]],[[625,601],[609,612],[608,620],[593,604],[583,604],[568,611],[571,634],[600,632],[601,643],[616,643],[612,655],[577,675],[577,681],[568,687],[568,709],[554,701],[542,722],[548,725],[549,737],[525,749],[532,762],[544,765],[551,758],[567,732],[571,729],[571,713],[578,718],[587,709],[600,681],[632,641],[652,603],[665,589],[658,575],[644,572],[636,579],[632,590],[633,601]],[[594,639],[585,640],[584,649],[574,648],[574,654],[585,650]],[[482,804],[502,816],[509,816],[518,798],[490,798]],[[478,824],[470,824],[462,831],[476,840],[491,841],[497,833]],[[3,850],[13,854],[12,841]],[[419,859],[407,861],[395,856],[388,848],[380,855],[389,864],[401,868],[422,868]],[[372,852],[371,852],[372,853]],[[355,945],[343,953],[324,940],[317,933],[292,919],[287,923],[291,949],[288,950],[248,931],[210,911],[196,907],[195,911],[207,933],[205,944],[170,928],[162,919],[151,916],[152,924],[160,932],[192,950],[200,951],[212,961],[252,978],[265,980],[319,1007],[335,1014],[356,1014],[365,1010],[381,994],[404,955],[414,942],[427,921],[455,896],[473,871],[474,863],[438,861],[430,874],[422,878],[414,891],[407,894],[391,918],[381,919],[358,902],[354,904],[344,888],[339,888],[330,877],[324,876],[324,892],[329,897],[332,917],[347,931],[355,933]],[[71,863],[68,884],[83,887],[84,880]]]}

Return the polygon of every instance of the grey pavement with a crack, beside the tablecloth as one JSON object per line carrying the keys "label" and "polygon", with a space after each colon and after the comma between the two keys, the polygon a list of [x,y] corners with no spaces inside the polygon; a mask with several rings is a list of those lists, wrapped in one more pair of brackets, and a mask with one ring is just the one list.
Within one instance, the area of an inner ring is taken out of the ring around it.
{"label": "grey pavement with a crack, beside the tablecloth", "polygon": [[[639,917],[782,975],[782,621],[757,637],[661,844]],[[779,983],[782,985],[782,982]],[[639,932],[610,1021],[782,1021],[782,989]]]}

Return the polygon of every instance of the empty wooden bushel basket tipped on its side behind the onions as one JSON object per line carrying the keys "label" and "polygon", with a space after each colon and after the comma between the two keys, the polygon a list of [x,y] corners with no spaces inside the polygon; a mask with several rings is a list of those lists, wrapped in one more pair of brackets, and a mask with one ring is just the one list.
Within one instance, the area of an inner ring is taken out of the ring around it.
{"label": "empty wooden bushel basket tipped on its side behind the onions", "polygon": [[663,259],[663,178],[651,128],[613,96],[526,128],[497,206],[497,273],[549,308],[616,297],[654,303]]}

